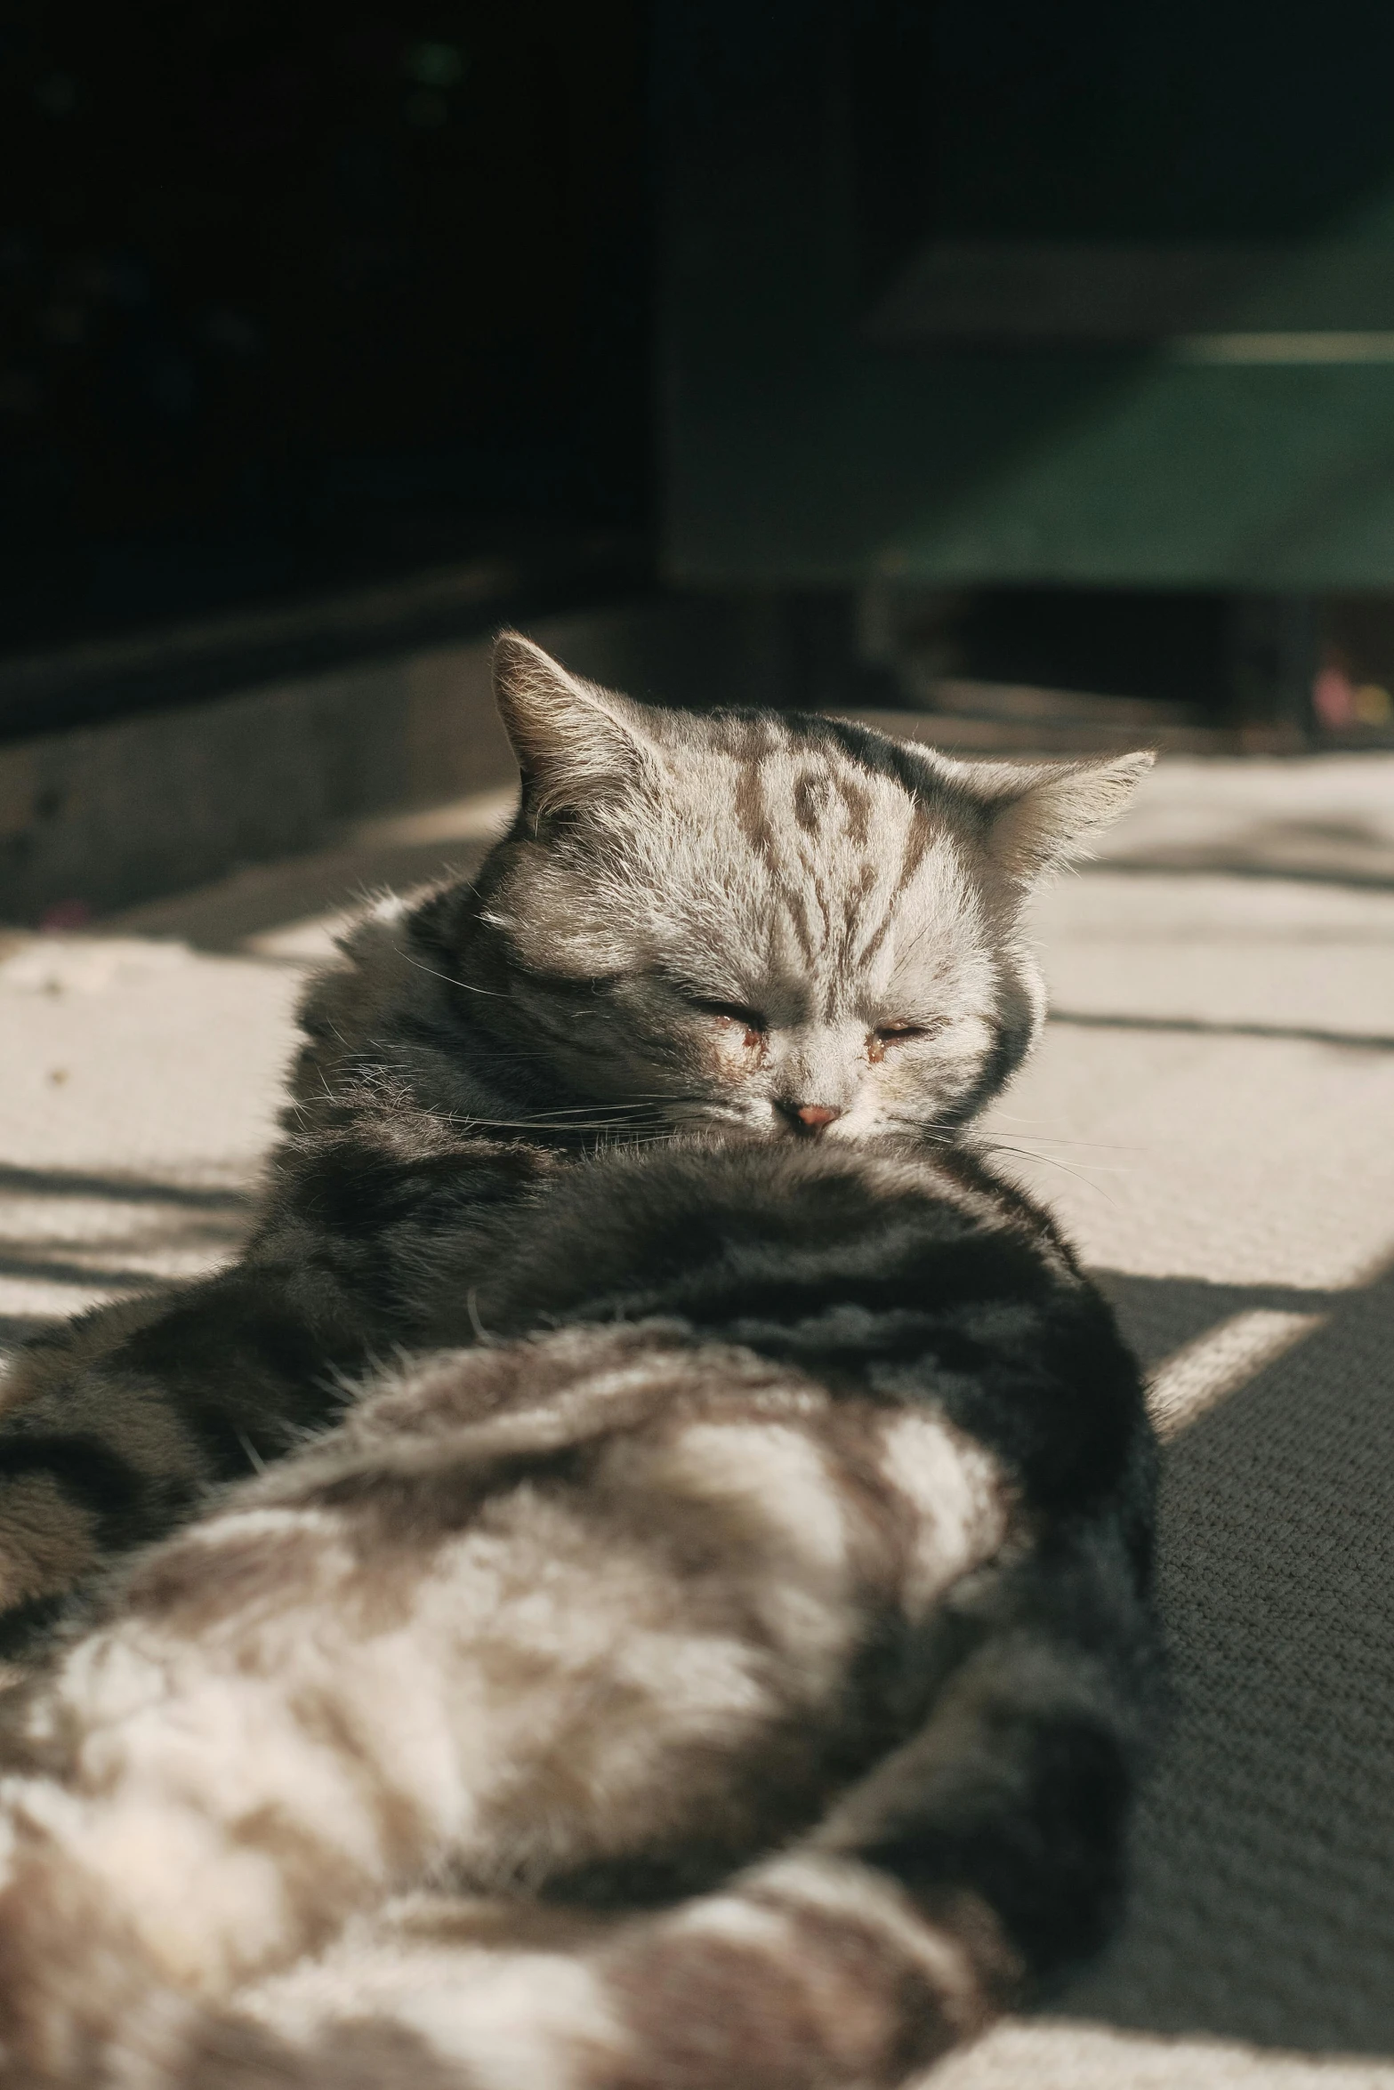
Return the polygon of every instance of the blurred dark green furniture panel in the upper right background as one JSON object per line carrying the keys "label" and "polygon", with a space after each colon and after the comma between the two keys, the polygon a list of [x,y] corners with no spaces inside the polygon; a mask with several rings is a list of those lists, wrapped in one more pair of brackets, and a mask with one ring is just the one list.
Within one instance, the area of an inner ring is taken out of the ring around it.
{"label": "blurred dark green furniture panel in the upper right background", "polygon": [[1210,600],[1212,715],[1388,723],[1312,711],[1394,585],[1388,8],[656,19],[671,579]]}

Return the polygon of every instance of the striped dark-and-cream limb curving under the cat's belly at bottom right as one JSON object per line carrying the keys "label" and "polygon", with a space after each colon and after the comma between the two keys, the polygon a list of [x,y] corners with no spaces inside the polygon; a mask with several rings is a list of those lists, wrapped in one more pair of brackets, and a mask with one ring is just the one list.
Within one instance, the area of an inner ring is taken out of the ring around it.
{"label": "striped dark-and-cream limb curving under the cat's belly at bottom right", "polygon": [[364,1925],[190,2025],[180,2090],[892,2090],[1101,1944],[1154,1703],[1122,1547],[993,1570],[957,1611],[976,1645],[932,1718],[803,1843],[581,1935],[477,1904]]}

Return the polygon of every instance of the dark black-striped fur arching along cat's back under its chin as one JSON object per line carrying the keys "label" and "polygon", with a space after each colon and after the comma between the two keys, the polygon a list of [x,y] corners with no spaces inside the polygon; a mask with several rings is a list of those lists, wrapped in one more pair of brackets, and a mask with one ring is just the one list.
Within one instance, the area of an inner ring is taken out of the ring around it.
{"label": "dark black-striped fur arching along cat's back under its chin", "polygon": [[1137,1361],[1055,1227],[968,1152],[692,1143],[598,1156],[529,1202],[441,1342],[667,1323],[834,1394],[930,1409],[1045,1515],[1118,1509],[1145,1547]]}

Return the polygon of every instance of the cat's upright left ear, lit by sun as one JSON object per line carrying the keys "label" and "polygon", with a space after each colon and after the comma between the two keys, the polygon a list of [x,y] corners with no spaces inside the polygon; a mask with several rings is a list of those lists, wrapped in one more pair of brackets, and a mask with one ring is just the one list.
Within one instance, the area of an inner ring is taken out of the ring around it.
{"label": "cat's upright left ear, lit by sun", "polygon": [[520,631],[493,642],[493,700],[537,813],[608,796],[652,759],[637,704],[571,675]]}

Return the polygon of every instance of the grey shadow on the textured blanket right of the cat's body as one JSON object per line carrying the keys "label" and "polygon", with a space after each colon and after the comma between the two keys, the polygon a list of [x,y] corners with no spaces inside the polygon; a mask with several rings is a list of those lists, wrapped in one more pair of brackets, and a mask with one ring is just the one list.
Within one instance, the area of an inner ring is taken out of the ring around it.
{"label": "grey shadow on the textured blanket right of the cat's body", "polygon": [[1131,1921],[1058,2013],[1394,2054],[1394,1277],[1110,1277],[1156,1361],[1246,1306],[1327,1313],[1166,1453],[1175,1714]]}

